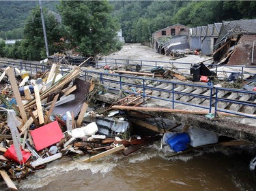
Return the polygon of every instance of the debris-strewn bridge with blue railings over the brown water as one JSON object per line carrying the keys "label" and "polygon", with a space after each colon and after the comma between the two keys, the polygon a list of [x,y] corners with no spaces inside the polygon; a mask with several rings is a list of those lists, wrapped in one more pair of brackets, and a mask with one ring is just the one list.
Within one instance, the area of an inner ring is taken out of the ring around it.
{"label": "debris-strewn bridge with blue railings over the brown water", "polygon": [[[51,66],[27,62],[0,60],[0,64],[2,67],[10,66],[26,69],[31,73],[36,71],[45,72],[51,69]],[[174,65],[184,75],[190,75],[190,64],[149,60],[102,59],[98,60],[98,62],[87,63],[86,67],[83,68],[81,79],[91,80],[91,77],[98,79],[104,85],[108,94],[99,94],[97,97],[106,102],[110,101],[110,103],[118,101],[120,92],[122,92],[146,100],[145,107],[207,111],[214,114],[215,117],[219,113],[237,116],[238,118],[232,117],[231,120],[230,118],[229,120],[226,120],[226,118],[218,120],[220,128],[216,128],[216,121],[214,122],[214,120],[205,121],[205,116],[172,114],[171,118],[175,118],[179,122],[189,121],[193,125],[203,126],[203,128],[221,135],[256,142],[256,133],[253,126],[246,124],[236,126],[233,123],[231,125],[231,122],[236,120],[245,119],[244,122],[247,122],[250,118],[251,124],[255,124],[256,92],[208,86],[206,83],[201,82],[181,82],[175,79],[163,79],[162,77],[138,77],[119,73],[104,73],[102,67],[105,65],[110,65],[111,67],[141,65],[141,68],[147,71],[154,67],[168,68]],[[65,75],[72,67],[61,66],[59,71],[62,75]],[[212,68],[217,75],[218,73],[223,73],[223,69],[219,66],[213,65]],[[245,75],[255,75],[256,73],[255,67],[245,66],[228,66],[225,73],[229,74],[233,71],[239,71],[242,79]],[[161,115],[163,116],[163,114]]]}

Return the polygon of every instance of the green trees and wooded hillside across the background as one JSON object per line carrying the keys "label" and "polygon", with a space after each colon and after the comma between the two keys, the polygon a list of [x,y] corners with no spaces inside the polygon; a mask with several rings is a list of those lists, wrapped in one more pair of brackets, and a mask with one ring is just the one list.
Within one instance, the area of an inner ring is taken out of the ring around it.
{"label": "green trees and wooded hillside across the background", "polygon": [[[197,27],[256,18],[256,1],[100,2],[42,1],[51,54],[65,48],[74,48],[84,56],[107,54],[120,48],[113,40],[118,29],[122,29],[128,43],[149,44],[154,31],[177,23]],[[56,13],[62,16],[61,21]],[[0,38],[23,41],[12,46],[0,41],[0,56],[44,58],[41,24],[38,1],[1,1]],[[59,37],[69,41],[69,45],[60,43]]]}

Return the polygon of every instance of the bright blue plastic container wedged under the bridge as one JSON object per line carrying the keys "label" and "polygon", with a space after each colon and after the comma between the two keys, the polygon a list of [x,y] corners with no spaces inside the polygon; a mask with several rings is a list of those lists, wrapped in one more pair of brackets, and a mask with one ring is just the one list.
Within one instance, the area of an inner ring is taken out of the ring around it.
{"label": "bright blue plastic container wedged under the bridge", "polygon": [[187,133],[179,133],[173,138],[169,139],[167,142],[172,150],[175,152],[180,152],[186,150],[190,139]]}

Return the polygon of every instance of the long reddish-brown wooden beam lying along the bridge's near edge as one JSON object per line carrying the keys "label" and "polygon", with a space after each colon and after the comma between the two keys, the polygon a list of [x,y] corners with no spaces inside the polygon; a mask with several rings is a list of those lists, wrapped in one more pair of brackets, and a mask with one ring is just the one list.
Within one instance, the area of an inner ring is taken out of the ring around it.
{"label": "long reddish-brown wooden beam lying along the bridge's near edge", "polygon": [[[193,110],[184,110],[184,109],[169,109],[169,108],[159,108],[159,107],[132,107],[132,106],[122,106],[122,105],[113,105],[111,109],[124,109],[124,110],[135,110],[135,111],[154,111],[154,112],[165,112],[165,113],[179,113],[179,114],[197,114],[197,115],[206,115],[209,114],[209,111],[193,111]],[[217,112],[221,116],[229,117],[239,117],[235,114],[227,114],[224,112]],[[250,115],[256,116],[256,115]]]}

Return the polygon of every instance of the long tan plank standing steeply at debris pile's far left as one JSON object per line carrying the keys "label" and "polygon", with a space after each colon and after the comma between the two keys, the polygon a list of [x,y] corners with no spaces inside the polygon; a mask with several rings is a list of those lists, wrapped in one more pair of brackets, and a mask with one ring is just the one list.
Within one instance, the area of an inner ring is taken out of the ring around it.
{"label": "long tan plank standing steeply at debris pile's far left", "polygon": [[9,80],[12,85],[12,90],[14,91],[14,97],[17,101],[18,109],[20,110],[20,116],[23,119],[23,122],[26,123],[27,122],[27,114],[26,114],[26,111],[23,106],[23,101],[20,97],[20,92],[18,90],[18,85],[17,85],[16,79],[15,79],[14,71],[12,68],[9,68],[6,70],[6,72],[8,73],[8,77],[9,77]]}

